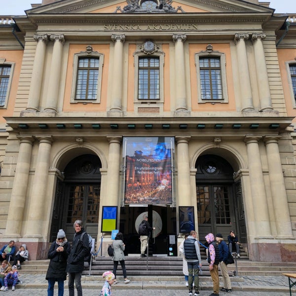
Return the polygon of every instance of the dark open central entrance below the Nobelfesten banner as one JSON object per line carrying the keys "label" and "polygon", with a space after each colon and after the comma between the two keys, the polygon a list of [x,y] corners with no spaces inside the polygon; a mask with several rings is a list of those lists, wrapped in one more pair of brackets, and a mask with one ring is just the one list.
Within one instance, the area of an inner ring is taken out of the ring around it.
{"label": "dark open central entrance below the Nobelfesten banner", "polygon": [[143,206],[133,204],[133,206],[126,205],[120,208],[119,231],[124,236],[125,255],[140,255],[141,243],[138,229],[145,215],[148,215],[150,226],[155,227],[149,237],[149,256],[167,256],[169,236],[177,235],[176,208],[159,204]]}

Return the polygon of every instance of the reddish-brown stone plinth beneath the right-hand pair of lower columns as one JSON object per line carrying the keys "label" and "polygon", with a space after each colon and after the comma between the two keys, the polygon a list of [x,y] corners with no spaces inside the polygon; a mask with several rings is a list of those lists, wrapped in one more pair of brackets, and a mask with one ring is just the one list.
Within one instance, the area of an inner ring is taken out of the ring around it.
{"label": "reddish-brown stone plinth beneath the right-hand pair of lower columns", "polygon": [[252,243],[248,249],[252,261],[294,262],[296,258],[295,243]]}

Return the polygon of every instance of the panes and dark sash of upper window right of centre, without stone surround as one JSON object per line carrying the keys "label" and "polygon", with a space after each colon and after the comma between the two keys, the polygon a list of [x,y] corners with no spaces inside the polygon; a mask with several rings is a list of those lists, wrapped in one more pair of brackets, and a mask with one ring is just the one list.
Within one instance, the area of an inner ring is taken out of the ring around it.
{"label": "panes and dark sash of upper window right of centre, without stone surround", "polygon": [[202,100],[222,100],[220,58],[200,58],[200,84]]}

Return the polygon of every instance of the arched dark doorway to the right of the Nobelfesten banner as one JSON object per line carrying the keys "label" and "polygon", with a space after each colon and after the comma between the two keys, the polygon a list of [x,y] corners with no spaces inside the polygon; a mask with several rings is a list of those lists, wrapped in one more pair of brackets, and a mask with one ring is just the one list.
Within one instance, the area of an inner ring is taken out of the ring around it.
{"label": "arched dark doorway to the right of the Nobelfesten banner", "polygon": [[246,227],[240,182],[234,182],[233,168],[222,157],[207,154],[196,163],[196,205],[200,240],[212,232],[226,239],[234,230],[246,243]]}

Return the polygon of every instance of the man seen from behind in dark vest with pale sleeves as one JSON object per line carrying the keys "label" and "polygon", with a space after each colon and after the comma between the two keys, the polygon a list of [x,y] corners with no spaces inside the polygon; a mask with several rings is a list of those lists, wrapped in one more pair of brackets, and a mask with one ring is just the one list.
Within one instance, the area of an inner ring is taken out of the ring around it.
{"label": "man seen from behind in dark vest with pale sleeves", "polygon": [[[187,261],[188,266],[188,288],[189,288],[189,296],[192,295],[193,289],[193,279],[194,279],[194,296],[198,296],[198,288],[199,288],[199,277],[198,271],[201,267],[201,257],[198,246],[198,241],[196,240],[197,233],[194,230],[190,231],[189,236],[184,241],[183,254]],[[194,274],[194,277],[193,277]]]}

